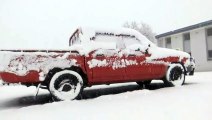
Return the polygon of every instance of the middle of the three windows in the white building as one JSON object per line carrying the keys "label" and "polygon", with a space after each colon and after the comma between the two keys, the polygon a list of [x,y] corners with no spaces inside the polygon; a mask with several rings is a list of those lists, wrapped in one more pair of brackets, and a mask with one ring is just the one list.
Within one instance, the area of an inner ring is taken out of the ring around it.
{"label": "middle of the three windows in the white building", "polygon": [[190,33],[183,34],[183,50],[191,54]]}

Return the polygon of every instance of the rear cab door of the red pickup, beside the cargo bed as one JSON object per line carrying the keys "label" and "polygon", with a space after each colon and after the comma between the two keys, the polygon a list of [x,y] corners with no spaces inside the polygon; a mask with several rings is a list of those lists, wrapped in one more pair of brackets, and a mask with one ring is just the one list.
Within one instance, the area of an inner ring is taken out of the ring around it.
{"label": "rear cab door of the red pickup, beside the cargo bed", "polygon": [[98,49],[89,54],[87,66],[92,71],[93,84],[124,80],[125,61],[118,50]]}

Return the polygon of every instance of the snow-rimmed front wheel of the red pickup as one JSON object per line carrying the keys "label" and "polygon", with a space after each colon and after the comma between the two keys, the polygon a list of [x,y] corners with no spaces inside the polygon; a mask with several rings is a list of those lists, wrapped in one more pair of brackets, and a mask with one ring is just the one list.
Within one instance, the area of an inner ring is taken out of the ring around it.
{"label": "snow-rimmed front wheel of the red pickup", "polygon": [[171,64],[164,83],[168,86],[182,86],[185,82],[185,69],[181,64]]}

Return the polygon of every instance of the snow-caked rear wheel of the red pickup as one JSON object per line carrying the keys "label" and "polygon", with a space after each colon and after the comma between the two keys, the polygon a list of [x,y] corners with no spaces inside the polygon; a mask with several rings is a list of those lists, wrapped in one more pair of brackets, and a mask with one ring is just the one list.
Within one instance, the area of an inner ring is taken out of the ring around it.
{"label": "snow-caked rear wheel of the red pickup", "polygon": [[82,88],[82,77],[72,70],[57,72],[49,83],[49,91],[57,101],[76,99],[82,92]]}

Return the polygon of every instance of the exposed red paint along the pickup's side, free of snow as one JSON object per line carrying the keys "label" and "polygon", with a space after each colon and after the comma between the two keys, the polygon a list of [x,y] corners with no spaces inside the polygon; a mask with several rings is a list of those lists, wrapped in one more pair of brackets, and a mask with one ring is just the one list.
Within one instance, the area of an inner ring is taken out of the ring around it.
{"label": "exposed red paint along the pickup's side, free of snow", "polygon": [[[33,51],[35,53],[36,51]],[[62,53],[63,51],[60,51]],[[67,52],[67,51],[64,51]],[[71,52],[71,51],[70,51]],[[139,51],[136,51],[139,52]],[[111,56],[106,57],[105,55],[92,56],[92,51],[89,56],[80,56],[79,54],[74,56],[69,56],[68,59],[76,59],[77,64],[79,65],[83,72],[87,75],[88,85],[94,84],[109,84],[109,83],[120,83],[120,82],[130,82],[130,81],[139,81],[139,80],[151,80],[151,79],[160,79],[166,74],[167,66],[164,64],[151,64],[145,63],[146,57],[150,56],[144,54],[143,56],[136,56],[130,54],[128,56],[123,55],[122,57]],[[41,56],[38,56],[38,58]],[[56,57],[56,56],[54,56]],[[138,65],[128,65],[127,67],[121,67],[113,69],[112,65],[89,68],[88,61],[91,59],[103,60],[106,61],[121,61],[121,60],[136,60]],[[19,59],[16,59],[17,61]],[[163,59],[157,59],[155,61],[163,62],[179,62],[179,57],[167,57]],[[185,59],[182,60],[184,62]],[[41,61],[42,62],[42,61]],[[70,66],[67,66],[67,68]],[[8,83],[40,83],[39,72],[38,71],[28,71],[24,76],[19,76],[15,73],[9,72],[0,72],[1,79]]]}

